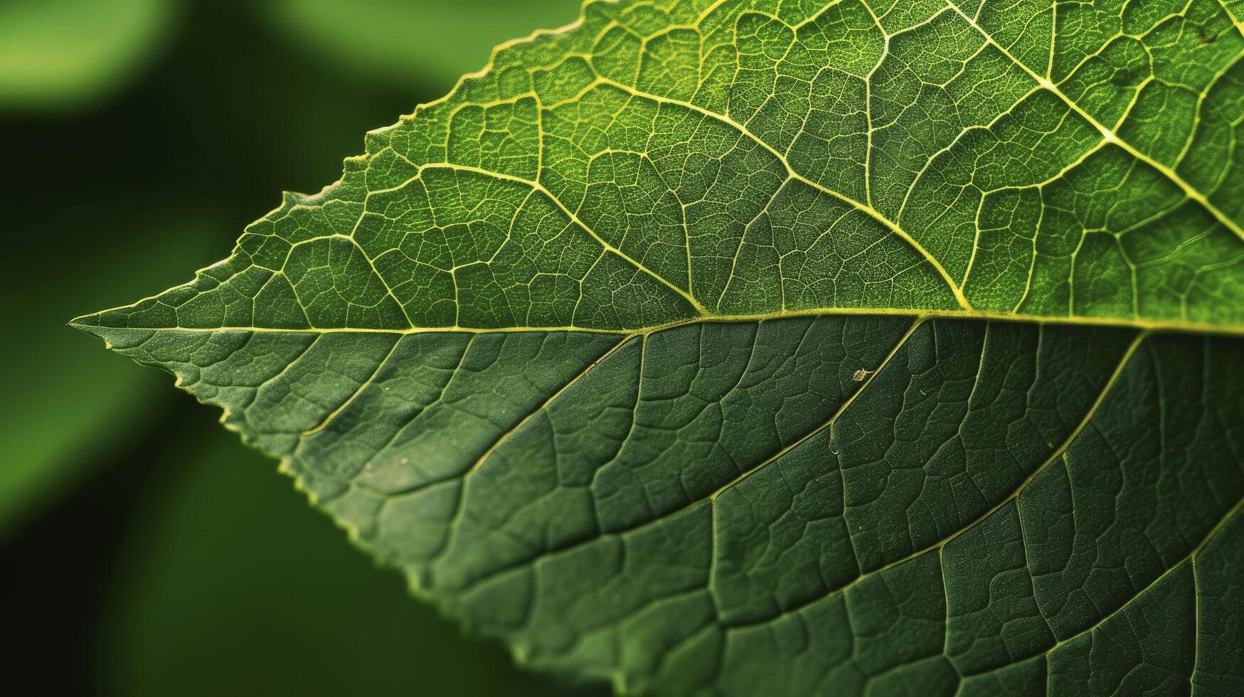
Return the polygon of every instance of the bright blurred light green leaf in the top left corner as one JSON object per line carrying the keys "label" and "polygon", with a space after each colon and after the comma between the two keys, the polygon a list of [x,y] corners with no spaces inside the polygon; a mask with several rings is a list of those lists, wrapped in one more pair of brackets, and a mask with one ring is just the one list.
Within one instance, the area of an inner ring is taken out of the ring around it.
{"label": "bright blurred light green leaf in the top left corner", "polygon": [[0,108],[63,108],[132,77],[172,24],[172,0],[0,2]]}

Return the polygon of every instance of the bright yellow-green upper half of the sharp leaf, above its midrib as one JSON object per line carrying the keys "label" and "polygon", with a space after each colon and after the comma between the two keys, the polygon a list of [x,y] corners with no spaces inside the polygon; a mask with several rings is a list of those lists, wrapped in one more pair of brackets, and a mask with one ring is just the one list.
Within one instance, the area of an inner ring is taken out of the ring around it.
{"label": "bright yellow-green upper half of the sharp leaf, above its midrib", "polygon": [[592,2],[113,326],[1244,324],[1225,0]]}

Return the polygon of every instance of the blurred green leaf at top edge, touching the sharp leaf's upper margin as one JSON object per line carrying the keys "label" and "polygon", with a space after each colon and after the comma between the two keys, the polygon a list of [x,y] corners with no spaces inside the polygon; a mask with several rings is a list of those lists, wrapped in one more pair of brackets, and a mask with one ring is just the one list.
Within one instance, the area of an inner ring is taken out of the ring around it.
{"label": "blurred green leaf at top edge, touching the sharp leaf's upper margin", "polygon": [[445,86],[514,36],[576,17],[578,0],[277,0],[259,9],[306,50],[382,82]]}

